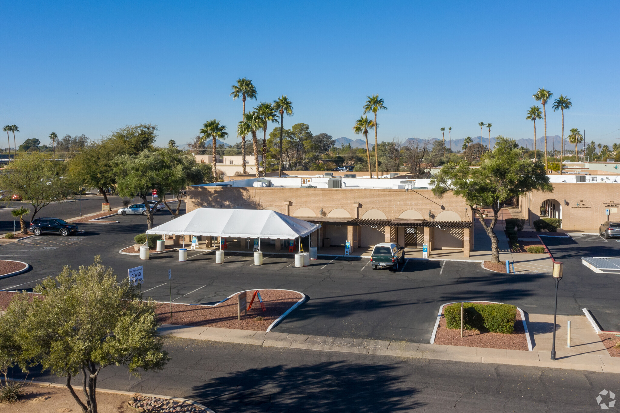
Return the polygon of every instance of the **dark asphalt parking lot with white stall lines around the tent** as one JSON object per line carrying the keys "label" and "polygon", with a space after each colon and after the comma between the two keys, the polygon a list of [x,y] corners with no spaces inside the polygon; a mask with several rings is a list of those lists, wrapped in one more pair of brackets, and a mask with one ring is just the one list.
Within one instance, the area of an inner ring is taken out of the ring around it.
{"label": "dark asphalt parking lot with white stall lines around the tent", "polygon": [[[158,213],[155,224],[170,218],[167,212]],[[120,223],[81,224],[84,233],[70,238],[45,235],[3,246],[5,259],[24,260],[33,269],[0,280],[0,288],[30,289],[43,278],[58,274],[63,265],[89,265],[95,255],[101,255],[119,277],[126,277],[129,268],[143,265],[143,293],[156,301],[169,301],[169,269],[175,303],[215,303],[237,291],[256,288],[306,294],[308,301],[277,327],[281,332],[428,342],[438,308],[451,301],[500,301],[529,313],[553,312],[555,284],[551,277],[493,273],[482,269],[479,262],[410,259],[398,272],[391,272],[372,270],[369,260],[359,257],[320,257],[325,259],[313,260],[304,268],[295,268],[292,256],[275,254],[266,254],[262,266],[254,265],[251,254],[236,253],[227,254],[224,264],[215,264],[215,254],[204,251],[188,251],[187,262],[179,262],[177,252],[141,261],[136,255],[118,251],[133,244],[135,234],[144,232],[146,219],[115,219]],[[566,263],[559,314],[582,314],[582,308],[587,307],[604,328],[620,329],[615,316],[620,309],[620,275],[595,274],[578,259],[595,253],[617,255],[620,243],[585,238],[545,241],[556,259]]]}

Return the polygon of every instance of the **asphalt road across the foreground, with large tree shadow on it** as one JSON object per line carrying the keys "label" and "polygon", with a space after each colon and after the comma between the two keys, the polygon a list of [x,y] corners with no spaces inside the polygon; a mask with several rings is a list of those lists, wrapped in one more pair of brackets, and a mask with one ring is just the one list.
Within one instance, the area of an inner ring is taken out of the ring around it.
{"label": "asphalt road across the foreground, with large tree shadow on it", "polygon": [[[135,378],[108,366],[97,386],[186,397],[217,413],[594,412],[601,411],[601,391],[620,394],[620,375],[613,373],[178,338],[166,339],[165,348],[172,360],[163,371]],[[64,383],[34,372],[28,378]]]}

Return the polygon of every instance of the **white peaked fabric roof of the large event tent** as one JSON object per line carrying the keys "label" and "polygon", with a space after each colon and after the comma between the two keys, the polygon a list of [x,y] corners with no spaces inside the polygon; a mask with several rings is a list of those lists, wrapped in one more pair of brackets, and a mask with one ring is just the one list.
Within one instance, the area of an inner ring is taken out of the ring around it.
{"label": "white peaked fabric roof of the large event tent", "polygon": [[270,210],[197,208],[146,234],[295,239],[319,228],[321,225]]}

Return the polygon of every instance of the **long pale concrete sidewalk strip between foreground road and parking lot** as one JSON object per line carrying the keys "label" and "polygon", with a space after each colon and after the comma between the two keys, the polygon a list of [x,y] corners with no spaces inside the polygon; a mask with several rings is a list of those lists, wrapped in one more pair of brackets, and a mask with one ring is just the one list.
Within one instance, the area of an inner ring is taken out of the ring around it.
{"label": "long pale concrete sidewalk strip between foreground road and parking lot", "polygon": [[221,329],[218,327],[175,326],[172,324],[162,324],[159,327],[159,332],[185,339],[262,345],[263,347],[620,373],[620,358],[618,357],[611,357],[609,353],[604,355],[603,352],[572,354],[570,350],[564,351],[557,342],[556,360],[552,361],[551,351],[544,349],[546,345],[542,343],[540,344],[541,350],[527,352],[393,340],[345,339],[304,334]]}

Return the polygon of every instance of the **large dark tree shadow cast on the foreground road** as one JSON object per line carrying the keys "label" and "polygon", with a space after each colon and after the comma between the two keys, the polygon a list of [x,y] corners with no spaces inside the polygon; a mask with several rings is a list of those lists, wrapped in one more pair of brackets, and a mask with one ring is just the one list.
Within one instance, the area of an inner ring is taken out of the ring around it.
{"label": "large dark tree shadow cast on the foreground road", "polygon": [[188,398],[224,412],[401,412],[422,407],[396,366],[345,361],[234,371]]}

